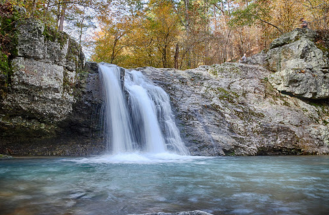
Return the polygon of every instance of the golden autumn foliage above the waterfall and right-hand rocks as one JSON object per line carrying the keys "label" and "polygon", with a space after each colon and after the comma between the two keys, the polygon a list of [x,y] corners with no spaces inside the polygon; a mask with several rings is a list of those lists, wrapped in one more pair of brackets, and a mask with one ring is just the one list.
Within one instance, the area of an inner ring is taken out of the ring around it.
{"label": "golden autumn foliage above the waterfall and right-hand rocks", "polygon": [[112,9],[99,19],[92,60],[195,68],[266,51],[274,38],[300,27],[303,17],[311,29],[326,31],[329,0],[160,0],[127,12]]}

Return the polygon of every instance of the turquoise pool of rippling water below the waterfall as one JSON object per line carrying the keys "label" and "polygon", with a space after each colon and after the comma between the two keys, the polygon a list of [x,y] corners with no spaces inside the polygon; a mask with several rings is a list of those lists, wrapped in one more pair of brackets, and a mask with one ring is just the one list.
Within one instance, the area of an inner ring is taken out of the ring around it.
{"label": "turquoise pool of rippling water below the waterfall", "polygon": [[0,161],[0,214],[189,210],[328,214],[329,156],[132,154]]}

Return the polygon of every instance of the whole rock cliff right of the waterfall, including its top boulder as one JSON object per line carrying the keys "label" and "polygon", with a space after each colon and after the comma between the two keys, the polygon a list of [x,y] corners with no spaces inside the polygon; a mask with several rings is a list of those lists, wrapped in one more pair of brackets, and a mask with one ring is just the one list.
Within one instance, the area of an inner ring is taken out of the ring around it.
{"label": "whole rock cliff right of the waterfall, including its top boulder", "polygon": [[296,29],[247,64],[138,70],[170,94],[192,155],[328,154],[328,53],[316,37]]}

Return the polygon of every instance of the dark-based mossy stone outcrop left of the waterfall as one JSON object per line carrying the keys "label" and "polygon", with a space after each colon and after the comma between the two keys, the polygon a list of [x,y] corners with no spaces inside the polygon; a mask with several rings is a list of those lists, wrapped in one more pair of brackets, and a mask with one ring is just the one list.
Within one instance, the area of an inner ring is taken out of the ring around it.
{"label": "dark-based mossy stone outcrop left of the waterfall", "polygon": [[87,72],[77,42],[40,21],[16,21],[15,34],[12,71],[0,71],[0,153],[103,153],[98,68]]}

